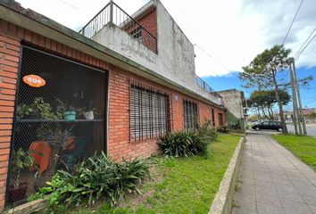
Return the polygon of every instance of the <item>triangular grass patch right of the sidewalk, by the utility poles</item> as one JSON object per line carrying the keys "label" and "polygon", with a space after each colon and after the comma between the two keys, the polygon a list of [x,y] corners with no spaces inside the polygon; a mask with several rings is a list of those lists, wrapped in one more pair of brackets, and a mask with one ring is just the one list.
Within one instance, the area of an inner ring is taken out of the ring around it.
{"label": "triangular grass patch right of the sidewalk, by the utility poles", "polygon": [[316,139],[314,137],[287,135],[272,137],[316,171]]}

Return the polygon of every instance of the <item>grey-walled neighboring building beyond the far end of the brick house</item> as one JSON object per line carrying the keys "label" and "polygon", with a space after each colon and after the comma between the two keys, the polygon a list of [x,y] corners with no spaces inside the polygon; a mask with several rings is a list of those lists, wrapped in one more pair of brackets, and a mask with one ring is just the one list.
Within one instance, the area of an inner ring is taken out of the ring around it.
{"label": "grey-walled neighboring building beyond the far end of the brick house", "polygon": [[228,126],[238,124],[240,128],[245,129],[245,116],[247,106],[245,103],[245,95],[243,91],[237,89],[229,89],[218,92],[222,97],[226,111],[226,123]]}

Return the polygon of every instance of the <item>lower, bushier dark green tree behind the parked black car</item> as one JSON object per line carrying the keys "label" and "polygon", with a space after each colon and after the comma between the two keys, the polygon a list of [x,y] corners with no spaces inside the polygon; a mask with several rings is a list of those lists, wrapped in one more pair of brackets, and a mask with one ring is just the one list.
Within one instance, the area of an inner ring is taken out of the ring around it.
{"label": "lower, bushier dark green tree behind the parked black car", "polygon": [[[279,90],[279,95],[281,103],[287,105],[291,99],[287,91]],[[274,90],[254,91],[247,103],[258,112],[258,117],[261,117],[262,112],[264,118],[274,119],[273,108],[278,103]]]}

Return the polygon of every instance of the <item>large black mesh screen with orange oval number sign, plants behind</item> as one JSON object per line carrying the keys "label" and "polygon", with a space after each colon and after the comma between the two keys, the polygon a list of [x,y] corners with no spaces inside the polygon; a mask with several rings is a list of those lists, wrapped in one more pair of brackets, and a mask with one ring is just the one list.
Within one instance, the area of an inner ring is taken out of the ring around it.
{"label": "large black mesh screen with orange oval number sign, plants behind", "polygon": [[105,149],[105,71],[23,46],[19,76],[7,205]]}

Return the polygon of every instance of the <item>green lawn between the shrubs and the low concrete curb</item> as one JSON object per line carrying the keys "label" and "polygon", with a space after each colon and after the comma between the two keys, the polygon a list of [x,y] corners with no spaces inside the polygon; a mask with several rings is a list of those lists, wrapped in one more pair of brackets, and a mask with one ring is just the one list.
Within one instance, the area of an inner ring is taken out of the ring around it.
{"label": "green lawn between the shrubs and the low concrete curb", "polygon": [[134,195],[115,209],[104,204],[72,213],[207,213],[239,139],[220,135],[208,157],[157,159],[154,182],[143,186],[143,195]]}

